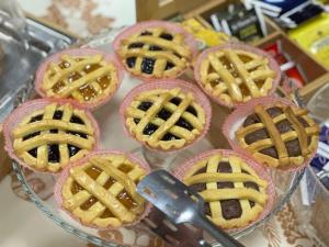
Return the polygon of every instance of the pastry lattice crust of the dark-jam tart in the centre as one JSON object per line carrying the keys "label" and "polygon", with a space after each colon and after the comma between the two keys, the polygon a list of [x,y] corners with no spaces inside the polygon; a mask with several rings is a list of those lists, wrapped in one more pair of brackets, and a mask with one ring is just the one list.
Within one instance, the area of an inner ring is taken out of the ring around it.
{"label": "pastry lattice crust of the dark-jam tart in the centre", "polygon": [[[180,97],[182,101],[179,105],[175,105],[170,102],[171,99]],[[167,134],[171,133],[182,141],[192,141],[195,138],[195,135],[200,134],[203,128],[202,114],[198,113],[197,116],[194,116],[186,109],[190,106],[193,100],[193,96],[188,93],[181,93],[180,89],[172,89],[168,91],[151,91],[150,94],[145,93],[136,98],[137,102],[151,101],[152,105],[147,111],[141,111],[138,109],[138,104],[128,109],[128,114],[132,117],[140,119],[139,123],[136,127],[131,131],[141,139],[146,139],[150,144],[156,144]],[[170,111],[171,116],[168,120],[163,120],[157,114],[166,109]],[[192,126],[193,130],[189,131],[184,127],[175,125],[180,117],[185,119]],[[144,135],[143,132],[148,124],[155,124],[158,126],[157,131],[152,133],[150,136]]]}

